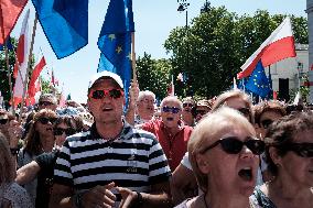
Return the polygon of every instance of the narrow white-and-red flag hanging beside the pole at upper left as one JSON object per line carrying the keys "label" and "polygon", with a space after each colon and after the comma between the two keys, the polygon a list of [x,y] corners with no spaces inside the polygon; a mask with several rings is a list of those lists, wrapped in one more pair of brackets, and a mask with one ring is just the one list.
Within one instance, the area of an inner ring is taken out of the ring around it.
{"label": "narrow white-and-red flag hanging beside the pole at upper left", "polygon": [[[13,99],[14,99],[14,106],[18,106],[18,103],[21,102],[23,97],[23,90],[24,90],[24,81],[26,78],[26,72],[28,72],[28,58],[30,53],[30,39],[29,39],[29,15],[30,10],[26,11],[22,29],[21,29],[21,35],[19,39],[19,45],[18,45],[18,52],[17,52],[17,59],[19,63],[15,63],[15,67],[18,68],[17,72],[17,78],[15,78],[15,85],[13,89]],[[14,68],[15,68],[14,67]]]}

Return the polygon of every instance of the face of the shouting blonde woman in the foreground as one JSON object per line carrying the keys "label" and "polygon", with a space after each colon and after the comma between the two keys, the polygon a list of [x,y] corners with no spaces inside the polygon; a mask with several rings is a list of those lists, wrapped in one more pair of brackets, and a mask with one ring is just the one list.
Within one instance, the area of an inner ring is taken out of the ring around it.
{"label": "face of the shouting blonde woman in the foreground", "polygon": [[[255,131],[244,127],[229,128],[222,132],[220,136],[206,141],[204,146],[209,146],[220,139],[236,138],[239,141],[248,141],[256,138]],[[225,130],[225,129],[224,129]],[[240,150],[240,149],[239,149]],[[208,187],[223,194],[250,196],[256,186],[259,155],[256,155],[246,145],[238,154],[224,151],[222,143],[199,154],[197,163],[204,174],[208,174]]]}

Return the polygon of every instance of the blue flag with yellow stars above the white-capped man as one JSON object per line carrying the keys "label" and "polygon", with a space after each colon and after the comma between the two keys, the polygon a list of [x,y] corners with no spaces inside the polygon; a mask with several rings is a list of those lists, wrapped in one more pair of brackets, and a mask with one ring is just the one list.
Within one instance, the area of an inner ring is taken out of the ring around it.
{"label": "blue flag with yellow stars above the white-capped man", "polygon": [[131,32],[134,32],[132,0],[111,0],[98,39],[101,51],[98,72],[118,74],[126,98],[131,79]]}

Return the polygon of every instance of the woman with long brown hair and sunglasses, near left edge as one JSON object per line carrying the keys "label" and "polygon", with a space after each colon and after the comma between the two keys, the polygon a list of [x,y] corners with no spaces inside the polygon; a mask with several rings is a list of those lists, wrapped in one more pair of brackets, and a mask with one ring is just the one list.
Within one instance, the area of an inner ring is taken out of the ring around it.
{"label": "woman with long brown hair and sunglasses, near left edge", "polygon": [[[34,119],[30,130],[24,139],[24,146],[20,150],[18,155],[18,167],[35,160],[35,157],[44,152],[52,152],[54,147],[53,124],[57,116],[50,109],[40,110],[34,114]],[[33,204],[36,198],[36,178],[31,183],[25,184],[24,188],[30,194]]]}

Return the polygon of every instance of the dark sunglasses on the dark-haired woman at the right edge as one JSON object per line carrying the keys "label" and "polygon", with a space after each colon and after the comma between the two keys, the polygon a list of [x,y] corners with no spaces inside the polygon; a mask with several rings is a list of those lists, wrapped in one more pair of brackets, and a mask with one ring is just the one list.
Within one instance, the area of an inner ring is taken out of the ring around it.
{"label": "dark sunglasses on the dark-haired woman at the right edge", "polygon": [[313,157],[313,143],[288,143],[282,150],[292,151],[301,157]]}

